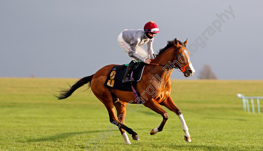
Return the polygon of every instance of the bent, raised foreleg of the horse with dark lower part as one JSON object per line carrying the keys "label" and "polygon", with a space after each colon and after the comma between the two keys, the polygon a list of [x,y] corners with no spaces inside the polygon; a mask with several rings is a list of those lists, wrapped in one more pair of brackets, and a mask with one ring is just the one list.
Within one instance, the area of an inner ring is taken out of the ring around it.
{"label": "bent, raised foreleg of the horse with dark lower part", "polygon": [[156,134],[160,131],[162,131],[163,126],[165,125],[165,122],[168,120],[168,113],[162,109],[162,107],[155,101],[154,99],[149,99],[147,102],[144,103],[144,106],[152,109],[152,111],[155,111],[158,114],[162,115],[162,123],[157,127],[151,130],[151,135]]}

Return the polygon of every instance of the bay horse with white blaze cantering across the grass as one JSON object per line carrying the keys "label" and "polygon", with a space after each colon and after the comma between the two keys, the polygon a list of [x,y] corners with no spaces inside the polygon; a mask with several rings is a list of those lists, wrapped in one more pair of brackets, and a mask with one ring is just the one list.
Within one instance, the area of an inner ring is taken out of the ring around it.
{"label": "bay horse with white blaze cantering across the grass", "polygon": [[[178,107],[175,106],[172,98],[170,97],[170,75],[173,69],[177,68],[179,71],[183,72],[185,77],[190,77],[195,72],[192,63],[190,62],[186,44],[187,39],[183,43],[178,41],[176,38],[172,41],[168,41],[167,46],[160,49],[159,54],[155,59],[152,59],[151,64],[146,64],[142,73],[142,78],[136,84],[137,92],[141,96],[138,97],[141,100],[140,103],[138,103],[138,98],[135,97],[133,92],[120,91],[103,86],[111,68],[116,64],[107,65],[99,69],[95,74],[81,78],[73,86],[71,86],[70,89],[62,89],[60,94],[55,96],[58,99],[65,99],[79,87],[84,84],[88,84],[88,88],[91,87],[91,91],[94,95],[105,105],[109,113],[110,122],[118,126],[126,144],[131,144],[126,132],[132,135],[132,139],[140,139],[136,132],[124,125],[126,107],[128,107],[127,102],[130,104],[143,104],[156,113],[162,115],[163,119],[161,124],[157,128],[151,130],[151,135],[162,131],[165,122],[168,120],[168,113],[164,111],[160,105],[165,106],[177,114],[182,124],[183,131],[185,132],[184,139],[187,142],[191,142],[190,134],[183,118],[183,114]],[[115,113],[114,106],[116,108],[117,115]]]}

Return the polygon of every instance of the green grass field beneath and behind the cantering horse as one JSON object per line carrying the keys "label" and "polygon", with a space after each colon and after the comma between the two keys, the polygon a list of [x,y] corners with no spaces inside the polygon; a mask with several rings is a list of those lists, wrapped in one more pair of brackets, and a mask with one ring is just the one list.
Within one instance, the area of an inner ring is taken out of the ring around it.
{"label": "green grass field beneath and behind the cantering horse", "polygon": [[[0,150],[85,151],[87,143],[106,134],[111,128],[108,112],[85,91],[87,86],[65,100],[53,97],[59,87],[76,80],[0,78]],[[257,115],[244,112],[236,97],[263,96],[263,81],[173,80],[172,86],[171,97],[183,112],[192,142],[184,141],[178,116],[166,108],[163,131],[150,135],[162,116],[139,106],[136,112],[127,110],[125,124],[141,139],[128,134],[131,145],[126,145],[120,131],[111,128],[112,135],[106,134],[96,150],[263,150],[263,101]]]}

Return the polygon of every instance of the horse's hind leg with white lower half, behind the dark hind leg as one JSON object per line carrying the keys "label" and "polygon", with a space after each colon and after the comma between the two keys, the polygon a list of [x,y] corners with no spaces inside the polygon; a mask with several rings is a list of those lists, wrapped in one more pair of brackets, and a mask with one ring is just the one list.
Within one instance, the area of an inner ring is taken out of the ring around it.
{"label": "horse's hind leg with white lower half, behind the dark hind leg", "polygon": [[[117,116],[119,121],[124,124],[125,120],[126,120],[126,102],[123,101],[119,101],[119,99],[116,100],[116,102],[113,103],[113,105],[115,106],[116,110],[117,110]],[[126,144],[131,144],[126,131],[123,130],[122,128],[119,128],[119,130],[121,131],[121,135],[125,141]]]}

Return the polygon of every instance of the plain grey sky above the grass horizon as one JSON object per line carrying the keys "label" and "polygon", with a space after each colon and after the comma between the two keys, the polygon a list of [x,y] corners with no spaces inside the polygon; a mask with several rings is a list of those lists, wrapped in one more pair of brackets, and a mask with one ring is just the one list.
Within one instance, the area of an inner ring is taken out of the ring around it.
{"label": "plain grey sky above the grass horizon", "polygon": [[[203,65],[209,64],[219,79],[262,80],[262,3],[1,0],[0,77],[82,78],[108,64],[129,63],[117,36],[154,21],[160,29],[154,37],[155,53],[174,38],[188,38],[187,48],[198,48],[188,49],[196,70],[193,77],[174,70],[172,78],[197,79]],[[230,12],[229,6],[235,17],[225,12]],[[222,17],[225,22],[216,16],[222,13],[229,17]],[[212,25],[216,20],[220,32]],[[213,35],[204,33],[209,27]],[[199,36],[203,48],[196,44]]]}

